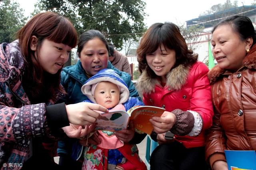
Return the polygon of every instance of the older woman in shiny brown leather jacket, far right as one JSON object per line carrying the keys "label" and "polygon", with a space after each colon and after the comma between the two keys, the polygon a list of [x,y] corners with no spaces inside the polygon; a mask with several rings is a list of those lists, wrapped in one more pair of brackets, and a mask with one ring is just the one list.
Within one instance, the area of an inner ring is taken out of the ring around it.
{"label": "older woman in shiny brown leather jacket, far right", "polygon": [[227,170],[224,150],[256,150],[256,34],[248,17],[232,16],[212,30],[218,64],[208,77],[214,104],[206,138],[206,158]]}

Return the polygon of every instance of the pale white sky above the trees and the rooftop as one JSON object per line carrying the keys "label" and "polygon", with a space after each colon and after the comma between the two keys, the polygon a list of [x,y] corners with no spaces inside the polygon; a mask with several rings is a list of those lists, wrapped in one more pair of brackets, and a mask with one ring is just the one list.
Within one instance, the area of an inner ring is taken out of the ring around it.
{"label": "pale white sky above the trees and the rooftop", "polygon": [[[37,0],[16,0],[25,10],[24,15],[29,16],[34,10]],[[145,0],[148,14],[144,22],[149,27],[156,22],[170,21],[177,25],[186,24],[187,20],[198,18],[213,5],[224,4],[225,0]],[[233,0],[231,0],[233,2]],[[238,6],[250,5],[253,0],[238,0]]]}

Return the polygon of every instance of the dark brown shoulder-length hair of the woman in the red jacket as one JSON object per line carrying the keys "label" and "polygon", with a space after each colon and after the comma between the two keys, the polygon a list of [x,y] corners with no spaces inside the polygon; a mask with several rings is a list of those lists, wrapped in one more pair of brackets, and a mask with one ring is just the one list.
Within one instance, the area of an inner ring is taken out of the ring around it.
{"label": "dark brown shoulder-length hair of the woman in the red jacket", "polygon": [[154,23],[143,35],[137,49],[140,72],[146,69],[148,75],[156,77],[156,74],[148,66],[146,54],[153,53],[160,45],[175,51],[176,63],[174,67],[180,64],[187,66],[197,61],[198,55],[193,54],[193,51],[188,49],[188,45],[177,25],[170,22]]}

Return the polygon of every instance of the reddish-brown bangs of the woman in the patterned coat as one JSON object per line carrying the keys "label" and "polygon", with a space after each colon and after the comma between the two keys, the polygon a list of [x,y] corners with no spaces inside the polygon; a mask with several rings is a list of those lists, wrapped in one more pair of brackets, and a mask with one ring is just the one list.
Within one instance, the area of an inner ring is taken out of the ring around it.
{"label": "reddish-brown bangs of the woman in the patterned coat", "polygon": [[62,43],[74,48],[77,43],[76,29],[72,23],[68,22],[65,18],[61,18],[48,39],[55,43]]}

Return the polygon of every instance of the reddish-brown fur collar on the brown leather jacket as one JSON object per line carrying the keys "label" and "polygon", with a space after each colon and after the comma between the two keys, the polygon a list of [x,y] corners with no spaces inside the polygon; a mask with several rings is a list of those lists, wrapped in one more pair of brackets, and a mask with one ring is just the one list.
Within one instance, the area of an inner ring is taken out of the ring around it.
{"label": "reddish-brown fur collar on the brown leather jacket", "polygon": [[[256,69],[256,45],[252,47],[248,55],[243,60],[243,67],[250,68],[250,69]],[[210,84],[215,83],[218,78],[228,70],[224,70],[218,66],[214,66],[209,72],[208,72],[208,78],[210,80]]]}

